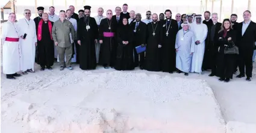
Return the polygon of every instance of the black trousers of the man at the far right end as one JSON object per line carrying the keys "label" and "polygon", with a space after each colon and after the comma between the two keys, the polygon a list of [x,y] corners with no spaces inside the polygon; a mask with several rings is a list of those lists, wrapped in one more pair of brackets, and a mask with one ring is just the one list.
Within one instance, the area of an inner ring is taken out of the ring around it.
{"label": "black trousers of the man at the far right end", "polygon": [[239,51],[239,71],[241,75],[252,77],[252,52],[240,52]]}

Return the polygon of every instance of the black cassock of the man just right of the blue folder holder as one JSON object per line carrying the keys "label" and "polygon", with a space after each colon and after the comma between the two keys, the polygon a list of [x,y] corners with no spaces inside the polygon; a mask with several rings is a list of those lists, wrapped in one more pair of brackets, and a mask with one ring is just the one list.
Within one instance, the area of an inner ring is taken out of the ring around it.
{"label": "black cassock of the man just right of the blue folder holder", "polygon": [[147,25],[145,69],[148,71],[161,71],[162,48],[158,48],[158,44],[162,42],[162,28],[161,22],[151,22]]}

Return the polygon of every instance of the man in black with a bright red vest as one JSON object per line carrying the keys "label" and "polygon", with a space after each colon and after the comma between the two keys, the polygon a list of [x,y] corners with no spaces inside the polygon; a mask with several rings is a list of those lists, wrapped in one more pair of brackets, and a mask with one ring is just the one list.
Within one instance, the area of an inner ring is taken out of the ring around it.
{"label": "man in black with a bright red vest", "polygon": [[42,18],[37,29],[37,46],[41,71],[45,70],[45,67],[51,70],[52,65],[54,65],[54,41],[52,39],[52,26],[54,23],[48,20],[47,13],[43,13]]}

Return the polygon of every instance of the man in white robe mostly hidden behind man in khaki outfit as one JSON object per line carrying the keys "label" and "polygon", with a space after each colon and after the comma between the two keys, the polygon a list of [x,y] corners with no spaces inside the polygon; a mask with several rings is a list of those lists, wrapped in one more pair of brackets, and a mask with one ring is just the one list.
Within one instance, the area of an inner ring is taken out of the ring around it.
{"label": "man in white robe mostly hidden behind man in khaki outfit", "polygon": [[[73,28],[75,29],[75,32],[76,32],[76,30],[77,30],[77,22],[76,22],[75,19],[73,19],[71,17],[72,16],[71,12],[72,11],[70,9],[66,10],[66,19],[69,20],[72,23]],[[75,38],[72,38],[72,35],[70,33],[70,42],[74,43],[74,40],[75,40]],[[71,62],[76,62],[76,56],[77,56],[76,55],[76,46],[75,46],[75,44],[73,44],[73,56],[72,56]],[[66,62],[66,56],[65,56],[65,60],[64,61]]]}

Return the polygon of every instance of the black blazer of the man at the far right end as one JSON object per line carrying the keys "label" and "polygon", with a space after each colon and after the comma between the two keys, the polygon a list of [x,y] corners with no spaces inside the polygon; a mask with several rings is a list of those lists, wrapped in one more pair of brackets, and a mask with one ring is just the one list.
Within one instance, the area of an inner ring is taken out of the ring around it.
{"label": "black blazer of the man at the far right end", "polygon": [[237,25],[237,44],[239,51],[243,50],[245,53],[252,54],[256,41],[256,23],[251,21],[243,35],[242,28],[243,22]]}

